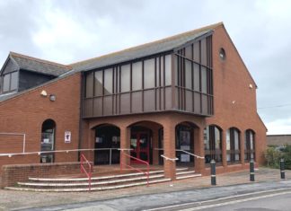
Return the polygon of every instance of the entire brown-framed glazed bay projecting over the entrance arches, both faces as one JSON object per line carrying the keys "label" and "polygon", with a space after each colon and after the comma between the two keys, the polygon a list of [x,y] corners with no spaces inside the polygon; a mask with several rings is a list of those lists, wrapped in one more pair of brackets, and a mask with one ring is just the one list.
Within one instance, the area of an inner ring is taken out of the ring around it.
{"label": "entire brown-framed glazed bay projecting over the entrance arches, both faces", "polygon": [[211,36],[84,73],[84,118],[178,110],[213,114]]}

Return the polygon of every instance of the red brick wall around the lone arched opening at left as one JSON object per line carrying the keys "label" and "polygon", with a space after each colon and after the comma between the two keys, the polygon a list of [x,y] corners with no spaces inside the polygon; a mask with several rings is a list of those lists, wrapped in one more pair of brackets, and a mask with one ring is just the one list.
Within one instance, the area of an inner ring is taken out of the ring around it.
{"label": "red brick wall around the lone arched opening at left", "polygon": [[[56,122],[55,150],[78,148],[79,115],[80,115],[80,74],[51,82],[39,88],[24,92],[13,99],[0,102],[0,132],[25,133],[25,152],[39,152],[41,126],[46,119]],[[45,90],[55,94],[56,101],[40,96]],[[65,144],[65,131],[71,131],[71,143]],[[0,136],[0,154],[22,153],[22,137]],[[21,144],[20,144],[21,143]],[[56,162],[75,162],[77,153],[57,153]],[[0,156],[0,167],[3,164],[40,163],[40,156],[16,155],[12,158]]]}

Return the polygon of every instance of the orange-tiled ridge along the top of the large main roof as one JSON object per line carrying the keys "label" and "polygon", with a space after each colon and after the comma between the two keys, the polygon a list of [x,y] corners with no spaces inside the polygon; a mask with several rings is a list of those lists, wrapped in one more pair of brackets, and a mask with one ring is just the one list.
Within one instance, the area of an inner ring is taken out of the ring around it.
{"label": "orange-tiled ridge along the top of the large main roof", "polygon": [[93,60],[96,60],[96,59],[100,59],[102,57],[110,57],[110,56],[113,56],[113,55],[116,55],[116,54],[119,54],[119,53],[122,53],[122,52],[127,52],[129,50],[133,50],[133,49],[137,49],[137,48],[143,48],[143,47],[152,45],[154,43],[160,43],[160,42],[164,42],[164,41],[168,41],[168,40],[173,40],[175,38],[179,38],[181,36],[184,36],[184,35],[187,35],[187,34],[191,34],[191,33],[196,32],[196,31],[198,32],[198,31],[204,31],[204,30],[210,30],[210,29],[214,30],[214,29],[216,29],[216,27],[218,27],[220,25],[223,25],[223,24],[224,24],[224,22],[216,22],[214,24],[210,24],[210,25],[207,25],[207,26],[204,26],[204,27],[192,30],[192,31],[186,31],[186,32],[182,32],[182,33],[179,33],[179,34],[175,34],[175,35],[172,35],[170,37],[167,37],[167,38],[164,38],[164,39],[161,39],[161,40],[150,41],[150,42],[138,45],[138,46],[134,46],[134,47],[122,49],[122,50],[119,50],[119,51],[115,51],[115,52],[112,52],[112,53],[109,53],[109,54],[105,54],[105,55],[102,55],[100,57],[92,57],[92,58],[85,59],[85,60],[82,60],[82,61],[79,61],[79,62],[71,63],[71,64],[69,64],[69,66],[79,66],[79,65],[82,65],[84,63],[87,63],[87,62],[90,62],[90,61],[93,61]]}

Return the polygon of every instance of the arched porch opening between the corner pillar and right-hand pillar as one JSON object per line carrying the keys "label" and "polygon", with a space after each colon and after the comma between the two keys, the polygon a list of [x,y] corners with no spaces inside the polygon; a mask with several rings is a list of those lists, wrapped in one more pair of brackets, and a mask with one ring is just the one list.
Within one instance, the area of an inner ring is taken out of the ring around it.
{"label": "arched porch opening between the corner pillar and right-hand pillar", "polygon": [[[197,126],[190,122],[182,122],[176,126],[177,165],[194,166],[194,130]],[[186,152],[190,153],[187,154]]]}

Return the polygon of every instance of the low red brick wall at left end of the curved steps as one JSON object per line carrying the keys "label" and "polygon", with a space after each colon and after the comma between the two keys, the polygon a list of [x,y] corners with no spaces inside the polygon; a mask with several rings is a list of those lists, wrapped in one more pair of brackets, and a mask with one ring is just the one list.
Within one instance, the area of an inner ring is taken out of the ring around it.
{"label": "low red brick wall at left end of the curved steps", "polygon": [[13,186],[17,181],[26,181],[30,177],[49,178],[80,172],[80,163],[42,163],[4,165],[1,171],[1,186]]}

